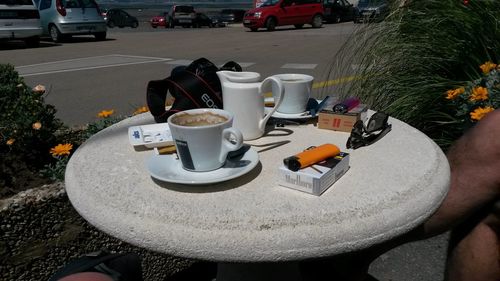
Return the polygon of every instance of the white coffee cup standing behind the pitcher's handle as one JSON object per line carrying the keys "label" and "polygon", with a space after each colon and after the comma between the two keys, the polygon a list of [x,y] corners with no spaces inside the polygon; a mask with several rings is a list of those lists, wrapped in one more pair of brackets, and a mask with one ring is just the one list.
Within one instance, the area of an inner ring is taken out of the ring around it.
{"label": "white coffee cup standing behind the pitcher's handle", "polygon": [[[285,93],[283,101],[276,109],[279,113],[297,114],[305,112],[307,102],[311,97],[312,84],[314,77],[306,74],[276,74],[271,77],[276,77],[281,80]],[[273,91],[275,93],[276,91]],[[274,94],[273,94],[274,96]],[[274,97],[276,100],[276,97]]]}

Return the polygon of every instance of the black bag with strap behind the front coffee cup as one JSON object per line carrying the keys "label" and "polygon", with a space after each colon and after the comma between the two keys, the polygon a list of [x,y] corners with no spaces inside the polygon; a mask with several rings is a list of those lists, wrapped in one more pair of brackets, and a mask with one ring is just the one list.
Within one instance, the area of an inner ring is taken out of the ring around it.
{"label": "black bag with strap behind the front coffee cup", "polygon": [[[149,81],[146,99],[149,111],[157,123],[167,122],[170,115],[193,108],[222,109],[222,92],[217,71],[241,71],[241,66],[229,61],[220,69],[207,60],[199,58],[188,66],[178,66],[170,77]],[[165,110],[167,92],[174,97],[170,110]]]}

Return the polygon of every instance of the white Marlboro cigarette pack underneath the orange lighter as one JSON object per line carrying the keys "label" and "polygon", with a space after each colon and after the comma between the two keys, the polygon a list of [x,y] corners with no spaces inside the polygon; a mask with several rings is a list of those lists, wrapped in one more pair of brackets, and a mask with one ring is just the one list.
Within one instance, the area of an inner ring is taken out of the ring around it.
{"label": "white Marlboro cigarette pack underneath the orange lighter", "polygon": [[349,154],[340,152],[337,156],[296,172],[285,165],[279,170],[280,185],[319,196],[349,170]]}

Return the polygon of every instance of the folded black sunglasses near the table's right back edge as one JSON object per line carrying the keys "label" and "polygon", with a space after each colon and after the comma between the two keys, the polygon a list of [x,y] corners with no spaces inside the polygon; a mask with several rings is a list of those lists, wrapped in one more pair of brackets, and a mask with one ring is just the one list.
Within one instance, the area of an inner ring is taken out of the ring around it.
{"label": "folded black sunglasses near the table's right back edge", "polygon": [[388,119],[389,115],[377,112],[370,117],[366,127],[362,120],[356,121],[347,139],[346,147],[356,149],[377,142],[391,131],[392,125],[387,123]]}

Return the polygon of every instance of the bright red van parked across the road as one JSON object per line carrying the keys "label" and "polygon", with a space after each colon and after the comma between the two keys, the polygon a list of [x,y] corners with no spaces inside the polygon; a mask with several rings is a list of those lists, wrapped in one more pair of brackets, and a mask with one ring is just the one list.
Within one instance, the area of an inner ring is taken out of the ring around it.
{"label": "bright red van parked across the road", "polygon": [[272,31],[281,25],[302,28],[304,24],[314,28],[323,25],[321,0],[266,0],[259,7],[247,11],[243,18],[243,26],[251,31],[259,28]]}

